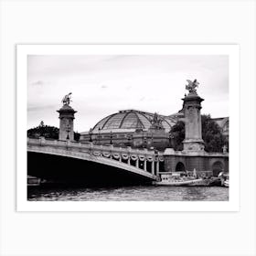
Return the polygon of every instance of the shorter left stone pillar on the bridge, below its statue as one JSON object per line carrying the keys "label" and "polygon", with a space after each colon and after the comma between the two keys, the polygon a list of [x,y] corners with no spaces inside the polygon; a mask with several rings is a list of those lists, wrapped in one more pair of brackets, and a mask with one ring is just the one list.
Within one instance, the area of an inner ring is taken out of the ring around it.
{"label": "shorter left stone pillar on the bridge, below its statue", "polygon": [[74,119],[75,113],[69,105],[64,104],[59,112],[59,140],[74,140]]}

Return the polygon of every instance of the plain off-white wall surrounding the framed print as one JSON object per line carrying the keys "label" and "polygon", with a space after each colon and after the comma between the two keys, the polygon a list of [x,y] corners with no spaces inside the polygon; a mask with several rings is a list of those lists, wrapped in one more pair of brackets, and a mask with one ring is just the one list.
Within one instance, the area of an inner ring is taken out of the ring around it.
{"label": "plain off-white wall surrounding the framed print", "polygon": [[[2,0],[0,12],[0,255],[256,255],[255,1]],[[239,45],[239,210],[16,211],[17,44]]]}

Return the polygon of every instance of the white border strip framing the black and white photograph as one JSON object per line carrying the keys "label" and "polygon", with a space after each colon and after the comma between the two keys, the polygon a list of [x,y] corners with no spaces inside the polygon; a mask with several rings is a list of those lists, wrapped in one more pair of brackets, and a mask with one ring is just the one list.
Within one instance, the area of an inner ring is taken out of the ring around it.
{"label": "white border strip framing the black and white photograph", "polygon": [[[27,201],[27,55],[229,55],[229,201]],[[17,45],[17,211],[238,211],[240,209],[240,60],[238,45]]]}

